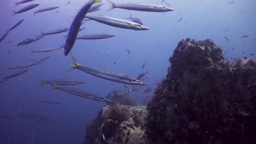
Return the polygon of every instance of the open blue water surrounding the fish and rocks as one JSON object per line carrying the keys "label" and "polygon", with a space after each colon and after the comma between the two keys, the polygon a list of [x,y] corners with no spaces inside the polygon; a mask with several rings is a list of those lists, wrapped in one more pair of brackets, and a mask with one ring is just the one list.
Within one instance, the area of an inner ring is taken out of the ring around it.
{"label": "open blue water surrounding the fish and rocks", "polygon": [[[84,0],[35,0],[30,3],[20,4],[14,8],[13,0],[0,2],[0,35],[21,19],[23,23],[0,43],[0,66],[12,67],[32,63],[27,57],[40,59],[51,56],[50,59],[28,68],[27,73],[8,79],[0,83],[0,112],[14,116],[14,119],[0,118],[0,144],[4,143],[82,143],[85,135],[85,127],[104,103],[83,99],[67,94],[60,90],[51,90],[50,85],[39,85],[40,79],[78,79],[86,81],[75,87],[106,96],[113,89],[123,89],[121,83],[107,81],[98,77],[85,74],[79,70],[69,71],[71,57],[64,56],[63,49],[46,53],[31,53],[31,50],[57,48],[63,43],[63,35],[67,32],[55,35],[46,35],[34,43],[17,47],[17,44],[27,38],[33,38],[40,32],[71,25],[72,16],[76,10],[86,2]],[[149,13],[143,11],[130,11],[124,9],[109,8],[109,3],[104,5],[96,14],[103,14],[121,19],[139,17],[149,31],[133,31],[103,25],[95,21],[88,21],[82,27],[86,27],[79,35],[94,33],[109,33],[115,37],[102,40],[77,40],[72,53],[78,63],[94,65],[96,67],[118,71],[120,73],[137,77],[148,70],[149,80],[145,80],[148,87],[155,87],[155,80],[165,78],[167,68],[170,66],[168,58],[176,48],[179,40],[191,38],[195,40],[212,39],[227,51],[227,58],[252,57],[256,54],[256,19],[254,0],[231,1],[186,1],[166,0],[174,11],[167,13]],[[118,1],[113,1],[118,2]],[[122,1],[131,3],[161,4],[161,0],[147,1]],[[12,16],[13,9],[18,10],[28,4],[38,3],[37,8],[22,14]],[[60,8],[38,13],[33,16],[33,11],[40,8],[59,6]],[[59,11],[56,13],[56,11]],[[181,17],[183,19],[177,22]],[[188,21],[187,23],[184,23]],[[208,26],[208,27],[207,27]],[[228,32],[225,31],[228,30]],[[241,38],[241,35],[249,35]],[[224,36],[230,41],[226,41]],[[235,48],[232,50],[232,48]],[[125,50],[131,51],[128,54]],[[10,51],[10,54],[8,52]],[[244,52],[244,54],[242,53]],[[142,70],[142,64],[147,61]],[[114,64],[116,62],[116,64]],[[0,70],[0,77],[4,77],[16,70]],[[138,87],[137,87],[138,88]],[[132,94],[132,93],[131,93]],[[146,97],[152,97],[153,93],[144,94],[143,90],[132,94],[132,98],[141,104]],[[61,101],[61,105],[38,104],[36,99]],[[36,114],[53,118],[57,123],[44,123],[33,121],[30,118],[19,117],[20,113]]]}

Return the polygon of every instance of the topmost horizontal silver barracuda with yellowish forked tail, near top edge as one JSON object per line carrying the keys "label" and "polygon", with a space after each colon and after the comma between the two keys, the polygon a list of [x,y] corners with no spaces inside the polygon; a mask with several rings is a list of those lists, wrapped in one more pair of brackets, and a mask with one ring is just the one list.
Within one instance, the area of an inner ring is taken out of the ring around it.
{"label": "topmost horizontal silver barracuda with yellowish forked tail, near top edge", "polygon": [[[108,2],[110,2],[110,1],[108,1]],[[112,4],[110,10],[112,10],[114,8],[120,8],[120,9],[148,11],[148,12],[167,12],[167,11],[173,11],[173,9],[164,7],[162,5],[136,4],[136,3],[115,4],[113,2],[110,2],[110,3]]]}

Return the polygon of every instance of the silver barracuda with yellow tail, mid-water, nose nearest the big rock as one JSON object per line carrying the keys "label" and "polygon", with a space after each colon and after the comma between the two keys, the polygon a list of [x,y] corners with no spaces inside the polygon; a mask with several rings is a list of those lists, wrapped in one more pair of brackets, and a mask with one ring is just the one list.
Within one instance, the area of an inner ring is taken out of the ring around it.
{"label": "silver barracuda with yellow tail, mid-water, nose nearest the big rock", "polygon": [[146,85],[146,83],[144,83],[144,82],[133,79],[130,76],[117,73],[112,70],[100,69],[100,68],[96,68],[96,67],[90,67],[88,65],[79,64],[79,63],[77,63],[77,61],[75,61],[75,58],[73,57],[72,54],[71,54],[71,56],[73,59],[71,70],[79,69],[79,70],[82,70],[85,73],[88,73],[90,75],[97,76],[97,77],[100,77],[102,79],[109,80],[109,81],[125,83],[127,85]]}

